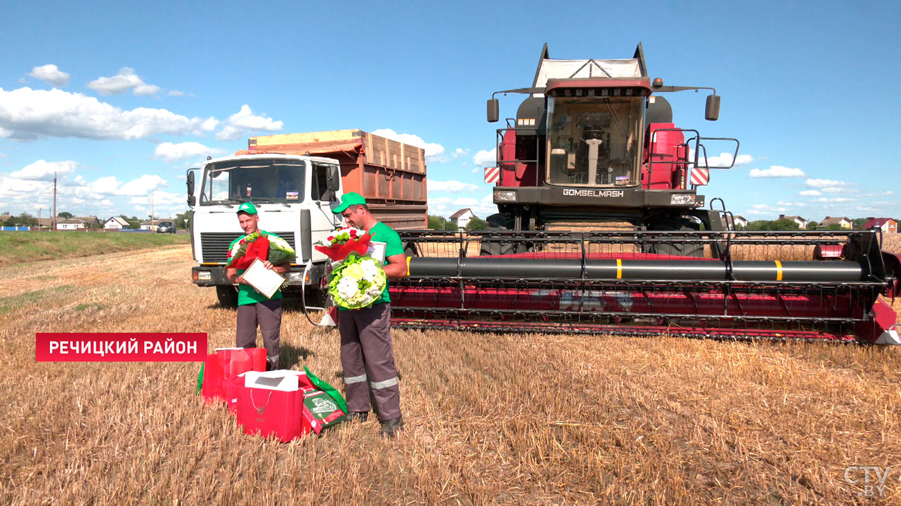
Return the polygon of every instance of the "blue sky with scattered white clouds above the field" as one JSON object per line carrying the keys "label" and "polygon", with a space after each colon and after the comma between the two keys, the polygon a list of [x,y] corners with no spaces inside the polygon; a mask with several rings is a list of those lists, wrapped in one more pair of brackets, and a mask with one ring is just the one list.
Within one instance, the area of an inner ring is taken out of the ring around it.
{"label": "blue sky with scattered white clouds above the field", "polygon": [[432,213],[484,217],[492,92],[531,86],[544,42],[618,59],[641,41],[651,77],[723,97],[705,122],[705,94],[667,95],[678,126],[742,142],[708,199],[751,220],[901,217],[898,3],[89,4],[0,19],[0,212],[47,216],[56,170],[58,211],[146,217],[153,191],[166,217],[207,154],[359,128],[427,149]]}

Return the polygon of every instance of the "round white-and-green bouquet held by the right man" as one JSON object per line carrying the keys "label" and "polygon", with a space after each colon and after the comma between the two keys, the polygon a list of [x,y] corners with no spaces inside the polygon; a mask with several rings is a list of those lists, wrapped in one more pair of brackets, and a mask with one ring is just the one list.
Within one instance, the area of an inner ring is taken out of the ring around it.
{"label": "round white-and-green bouquet held by the right man", "polygon": [[328,286],[336,305],[361,309],[381,298],[387,276],[378,260],[353,251],[334,267]]}

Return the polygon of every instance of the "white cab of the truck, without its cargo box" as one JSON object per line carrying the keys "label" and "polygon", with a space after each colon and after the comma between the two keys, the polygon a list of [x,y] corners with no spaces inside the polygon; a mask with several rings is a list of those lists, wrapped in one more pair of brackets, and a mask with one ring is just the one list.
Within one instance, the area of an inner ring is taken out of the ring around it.
{"label": "white cab of the truck, without its cargo box", "polygon": [[232,240],[243,235],[238,206],[252,202],[260,230],[277,234],[296,250],[286,292],[299,293],[303,285],[318,291],[327,258],[313,244],[341,224],[341,215],[332,213],[341,194],[341,168],[333,158],[269,153],[207,158],[187,172],[188,229],[197,262],[192,280],[215,286],[223,306],[237,305],[225,262]]}

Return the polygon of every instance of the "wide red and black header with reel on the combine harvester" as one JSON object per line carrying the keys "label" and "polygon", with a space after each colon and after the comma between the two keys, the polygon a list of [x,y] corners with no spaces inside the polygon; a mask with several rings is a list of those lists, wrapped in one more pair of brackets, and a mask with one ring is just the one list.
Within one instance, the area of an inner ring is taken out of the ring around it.
{"label": "wide red and black header with reel on the combine harvester", "polygon": [[[400,327],[901,343],[879,299],[901,258],[876,230],[399,233],[417,255],[390,285]],[[643,253],[674,243],[707,258]]]}

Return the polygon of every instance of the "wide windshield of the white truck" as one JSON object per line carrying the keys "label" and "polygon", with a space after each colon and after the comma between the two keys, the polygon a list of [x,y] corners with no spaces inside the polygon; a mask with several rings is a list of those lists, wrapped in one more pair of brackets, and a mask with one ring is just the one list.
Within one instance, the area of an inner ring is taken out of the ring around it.
{"label": "wide windshield of the white truck", "polygon": [[301,160],[232,160],[207,166],[201,205],[304,200],[306,164]]}

